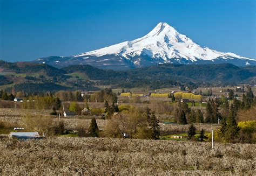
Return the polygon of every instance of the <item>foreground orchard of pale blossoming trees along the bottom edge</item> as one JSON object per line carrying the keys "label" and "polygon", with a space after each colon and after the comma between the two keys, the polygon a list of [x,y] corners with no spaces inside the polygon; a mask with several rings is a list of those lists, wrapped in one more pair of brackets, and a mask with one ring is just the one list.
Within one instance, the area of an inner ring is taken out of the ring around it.
{"label": "foreground orchard of pale blossoming trees along the bottom edge", "polygon": [[1,175],[253,174],[254,144],[53,137],[0,139]]}

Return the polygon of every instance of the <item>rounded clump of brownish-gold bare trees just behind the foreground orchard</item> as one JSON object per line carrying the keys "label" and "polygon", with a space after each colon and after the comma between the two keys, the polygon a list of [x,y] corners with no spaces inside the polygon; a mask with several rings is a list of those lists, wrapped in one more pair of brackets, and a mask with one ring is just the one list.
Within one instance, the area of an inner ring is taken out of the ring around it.
{"label": "rounded clump of brownish-gold bare trees just behind the foreground orchard", "polygon": [[104,135],[114,138],[159,139],[159,120],[151,111],[129,107],[107,119]]}

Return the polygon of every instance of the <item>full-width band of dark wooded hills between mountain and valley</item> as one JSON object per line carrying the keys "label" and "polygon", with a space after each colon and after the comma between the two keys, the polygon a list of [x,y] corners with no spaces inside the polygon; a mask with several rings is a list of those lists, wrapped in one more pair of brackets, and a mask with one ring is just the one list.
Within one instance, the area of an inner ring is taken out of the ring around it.
{"label": "full-width band of dark wooded hills between mountain and valley", "polygon": [[256,66],[232,64],[180,65],[161,64],[127,71],[104,70],[89,65],[72,65],[58,69],[46,64],[0,61],[0,89],[29,93],[58,90],[99,90],[143,87],[150,89],[182,86],[226,86],[256,84]]}

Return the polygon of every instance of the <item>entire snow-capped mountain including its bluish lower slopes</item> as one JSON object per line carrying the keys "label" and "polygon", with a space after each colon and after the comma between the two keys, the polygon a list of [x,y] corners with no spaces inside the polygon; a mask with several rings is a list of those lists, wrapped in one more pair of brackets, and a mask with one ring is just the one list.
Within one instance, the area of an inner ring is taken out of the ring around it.
{"label": "entire snow-capped mountain including its bluish lower slopes", "polygon": [[202,47],[167,23],[159,23],[146,36],[71,57],[36,60],[55,67],[88,64],[100,68],[129,69],[164,63],[256,65],[256,59]]}

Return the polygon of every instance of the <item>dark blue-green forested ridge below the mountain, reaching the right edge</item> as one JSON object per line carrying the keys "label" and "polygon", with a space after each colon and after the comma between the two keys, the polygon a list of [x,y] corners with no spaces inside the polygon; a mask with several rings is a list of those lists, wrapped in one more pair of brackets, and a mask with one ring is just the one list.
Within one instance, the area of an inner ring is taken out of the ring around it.
{"label": "dark blue-green forested ridge below the mountain, reaching the right edge", "polygon": [[256,66],[237,67],[232,64],[218,65],[176,65],[161,64],[157,66],[130,69],[128,71],[112,71],[88,65],[69,66],[63,68],[68,73],[83,72],[92,80],[149,79],[176,80],[179,82],[241,82],[256,76]]}

